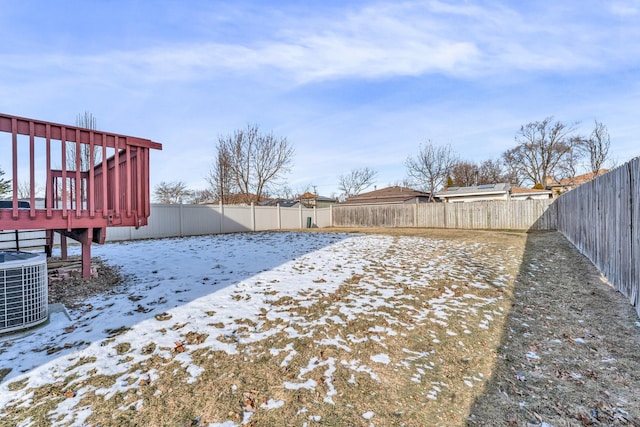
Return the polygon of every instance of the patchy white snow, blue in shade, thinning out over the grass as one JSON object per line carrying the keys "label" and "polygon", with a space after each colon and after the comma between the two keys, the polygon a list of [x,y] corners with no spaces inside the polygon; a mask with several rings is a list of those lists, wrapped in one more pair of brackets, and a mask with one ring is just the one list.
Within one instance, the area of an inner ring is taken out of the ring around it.
{"label": "patchy white snow, blue in shade, thinning out over the grass", "polygon": [[[396,255],[388,253],[392,242]],[[429,262],[418,264],[411,257],[416,245],[422,245],[423,251],[433,251]],[[480,298],[471,289],[506,286],[509,277],[502,273],[487,276],[482,266],[473,265],[470,257],[465,256],[465,251],[479,251],[481,248],[463,246],[462,243],[411,237],[322,233],[217,235],[94,246],[93,255],[120,266],[127,280],[114,292],[86,301],[80,309],[69,313],[70,319],[64,313],[52,313],[50,322],[35,331],[2,338],[0,369],[10,369],[10,372],[0,385],[0,411],[9,404],[29,405],[33,399],[29,389],[54,384],[71,375],[75,376],[74,382],[78,384],[82,384],[89,375],[119,376],[114,384],[104,388],[79,387],[75,397],[58,405],[55,413],[65,414],[65,417],[54,425],[70,422],[81,425],[91,413],[88,408],[76,406],[83,394],[94,392],[108,399],[137,387],[138,383],[131,378],[157,374],[131,373],[130,368],[152,355],[178,361],[190,375],[189,381],[198,381],[204,368],[193,363],[191,354],[194,351],[212,349],[236,354],[238,344],[259,342],[283,330],[295,339],[305,328],[349,322],[362,313],[375,312],[381,307],[402,308],[402,301],[410,301],[414,297],[404,295],[398,284],[428,286],[431,280],[447,277],[452,285],[428,301],[425,309],[414,310],[407,305],[407,309],[412,310],[412,322],[443,326],[450,336],[486,329],[501,313],[492,308],[495,299]],[[443,247],[447,251],[442,251]],[[73,250],[78,251],[79,248]],[[451,262],[457,256],[456,251],[460,252],[462,262]],[[465,259],[468,260],[466,265]],[[405,274],[407,268],[414,271],[414,276]],[[376,279],[370,274],[366,281],[358,284],[363,292],[357,299],[352,298],[348,304],[336,301],[333,310],[327,311],[325,317],[313,320],[313,323],[297,314],[297,308],[310,303],[309,295],[330,294],[346,280],[365,271],[384,273],[384,279]],[[471,286],[468,288],[464,281],[470,275],[473,281],[467,282]],[[422,282],[416,283],[416,277]],[[282,301],[284,297],[290,297],[289,306],[270,307],[270,302]],[[449,318],[460,313],[468,318],[463,323],[464,329],[446,329]],[[239,319],[249,319],[256,324],[264,319],[282,320],[296,327],[270,330],[255,327],[239,334],[236,322]],[[188,324],[189,329],[206,334],[206,337],[191,342],[176,354],[176,346],[184,340],[181,335],[184,331],[171,328],[177,324]],[[376,374],[377,366],[391,363],[399,367],[418,363],[412,381],[421,382],[426,370],[433,368],[431,357],[436,350],[415,352],[404,349],[404,360],[392,360],[385,352],[386,340],[396,336],[401,327],[412,326],[394,326],[390,321],[370,329],[365,337],[335,336],[319,340],[319,345],[339,348],[346,356],[349,356],[350,346],[362,340],[379,345],[380,352],[370,360],[360,360],[355,356],[339,360],[311,359],[294,380],[283,382],[282,386],[286,389],[315,389],[318,381],[307,374],[321,370],[324,374],[323,389],[328,390],[324,401],[333,404],[337,391],[332,384],[332,375],[337,366],[354,373],[366,373],[380,381]],[[215,339],[221,335],[226,339]],[[439,343],[435,333],[431,339],[434,345]],[[155,348],[151,351],[119,351],[122,345],[147,342],[156,343]],[[292,345],[287,345],[271,349],[271,354],[282,358],[280,366],[286,366],[296,351]],[[533,357],[533,354],[527,356]],[[354,376],[352,380],[355,381]],[[9,389],[10,383],[19,381],[24,382],[24,387]],[[465,384],[472,387],[476,381],[479,381],[477,377],[468,377]],[[447,384],[432,382],[425,387],[430,390],[428,398],[437,399]],[[281,400],[270,400],[262,407],[278,410],[284,404]],[[373,412],[362,414],[367,420],[373,415]],[[55,414],[52,419],[55,419]],[[307,419],[320,421],[316,415],[308,415]],[[27,421],[24,425],[30,424]],[[223,421],[222,424],[211,425],[236,424]]]}

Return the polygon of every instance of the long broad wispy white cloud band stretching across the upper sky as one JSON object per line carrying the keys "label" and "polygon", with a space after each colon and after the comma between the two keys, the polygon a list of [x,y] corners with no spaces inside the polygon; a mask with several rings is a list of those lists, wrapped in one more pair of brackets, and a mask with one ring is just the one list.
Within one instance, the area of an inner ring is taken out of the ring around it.
{"label": "long broad wispy white cloud band stretching across the upper sky", "polygon": [[[612,6],[630,14],[635,5]],[[292,17],[281,17],[287,20]],[[189,81],[226,73],[265,71],[290,84],[342,78],[377,79],[443,74],[475,78],[513,71],[559,72],[604,68],[612,38],[626,27],[599,31],[598,23],[563,22],[506,6],[445,2],[378,3],[338,18],[296,17],[287,31],[256,29],[242,43],[199,40],[159,41],[133,51],[105,50],[91,55],[55,54],[3,58],[14,67],[59,69],[141,82]],[[634,45],[627,53],[638,53]]]}

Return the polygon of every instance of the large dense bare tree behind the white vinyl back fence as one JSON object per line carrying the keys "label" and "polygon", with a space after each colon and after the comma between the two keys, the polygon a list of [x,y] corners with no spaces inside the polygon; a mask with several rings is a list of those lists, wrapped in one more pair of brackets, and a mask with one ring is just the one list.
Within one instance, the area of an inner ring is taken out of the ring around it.
{"label": "large dense bare tree behind the white vinyl back fence", "polygon": [[257,125],[218,137],[217,149],[213,169],[218,174],[217,181],[232,183],[246,203],[259,201],[275,187],[278,179],[290,170],[294,154],[286,138],[260,133]]}

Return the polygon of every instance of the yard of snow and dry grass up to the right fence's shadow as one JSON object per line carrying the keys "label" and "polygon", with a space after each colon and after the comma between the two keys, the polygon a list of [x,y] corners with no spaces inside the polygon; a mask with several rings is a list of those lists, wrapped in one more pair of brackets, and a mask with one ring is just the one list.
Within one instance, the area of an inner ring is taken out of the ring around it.
{"label": "yard of snow and dry grass up to the right fence's shadow", "polygon": [[125,283],[0,340],[0,422],[464,425],[492,374],[526,235],[493,239],[95,246]]}

